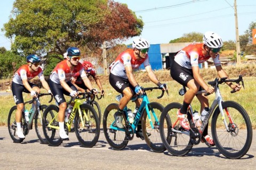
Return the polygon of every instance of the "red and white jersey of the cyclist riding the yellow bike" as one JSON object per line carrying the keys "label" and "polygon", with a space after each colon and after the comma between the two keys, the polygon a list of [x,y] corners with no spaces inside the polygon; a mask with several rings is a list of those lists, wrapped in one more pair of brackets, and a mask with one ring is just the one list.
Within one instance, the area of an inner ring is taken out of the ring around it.
{"label": "red and white jersey of the cyclist riding the yellow bike", "polygon": [[53,82],[58,84],[60,84],[60,80],[65,80],[65,82],[68,82],[77,72],[80,73],[82,79],[86,77],[84,67],[81,63],[78,62],[78,65],[71,70],[67,62],[67,60],[63,60],[53,69],[50,76],[50,79]]}

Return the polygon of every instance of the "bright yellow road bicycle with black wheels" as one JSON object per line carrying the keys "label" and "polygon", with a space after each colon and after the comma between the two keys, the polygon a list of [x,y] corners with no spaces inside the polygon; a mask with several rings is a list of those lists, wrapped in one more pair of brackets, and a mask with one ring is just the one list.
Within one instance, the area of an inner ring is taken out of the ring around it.
{"label": "bright yellow road bicycle with black wheels", "polygon": [[[83,104],[82,99],[93,95],[93,92],[80,92],[79,97],[71,97],[67,105],[74,102],[75,105],[69,115],[68,121],[65,123],[65,131],[68,134],[74,120],[74,129],[78,141],[84,147],[93,147],[99,139],[100,124],[95,109],[89,104]],[[59,146],[62,139],[59,137],[59,107],[49,105],[43,114],[43,132],[50,146]]]}

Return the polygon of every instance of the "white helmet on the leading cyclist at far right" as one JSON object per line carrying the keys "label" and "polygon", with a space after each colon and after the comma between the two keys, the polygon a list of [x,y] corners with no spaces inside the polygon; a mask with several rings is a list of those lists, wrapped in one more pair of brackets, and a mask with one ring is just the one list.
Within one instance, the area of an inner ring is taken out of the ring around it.
{"label": "white helmet on the leading cyclist at far right", "polygon": [[209,48],[221,48],[223,46],[221,37],[212,31],[204,33],[203,43]]}

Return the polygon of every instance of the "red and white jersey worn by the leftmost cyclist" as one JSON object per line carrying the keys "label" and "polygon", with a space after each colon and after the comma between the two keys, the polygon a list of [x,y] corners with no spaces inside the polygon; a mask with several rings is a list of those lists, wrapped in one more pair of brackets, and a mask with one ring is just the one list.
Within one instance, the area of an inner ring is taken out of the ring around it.
{"label": "red and white jersey worn by the leftmost cyclist", "polygon": [[38,75],[40,80],[44,80],[43,69],[39,67],[38,71],[30,72],[28,64],[22,65],[13,75],[12,81],[23,85],[22,80],[31,80]]}

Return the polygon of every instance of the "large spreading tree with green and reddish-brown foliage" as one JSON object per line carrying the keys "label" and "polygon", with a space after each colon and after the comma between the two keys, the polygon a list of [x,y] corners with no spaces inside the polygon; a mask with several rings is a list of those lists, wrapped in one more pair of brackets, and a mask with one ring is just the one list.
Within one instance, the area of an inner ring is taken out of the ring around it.
{"label": "large spreading tree with green and reddish-brown foliage", "polygon": [[[12,49],[46,54],[62,60],[70,46],[100,48],[103,41],[140,35],[143,22],[127,5],[111,0],[16,0],[12,18],[4,24]],[[85,47],[85,48],[83,48]]]}

